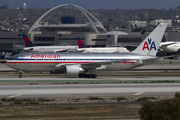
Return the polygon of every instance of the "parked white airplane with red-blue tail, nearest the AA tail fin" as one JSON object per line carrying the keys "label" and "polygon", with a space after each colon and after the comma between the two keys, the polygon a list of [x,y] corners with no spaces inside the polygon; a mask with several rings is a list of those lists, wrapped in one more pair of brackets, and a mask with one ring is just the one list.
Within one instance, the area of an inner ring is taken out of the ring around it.
{"label": "parked white airplane with red-blue tail, nearest the AA tail fin", "polygon": [[103,47],[103,48],[87,48],[81,38],[77,37],[79,48],[76,49],[77,52],[83,53],[113,53],[113,52],[129,52],[124,47]]}

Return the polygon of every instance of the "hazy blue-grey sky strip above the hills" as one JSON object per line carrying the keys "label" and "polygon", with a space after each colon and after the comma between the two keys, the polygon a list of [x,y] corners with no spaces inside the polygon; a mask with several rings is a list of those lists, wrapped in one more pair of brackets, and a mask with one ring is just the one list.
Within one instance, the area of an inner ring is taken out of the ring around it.
{"label": "hazy blue-grey sky strip above the hills", "polygon": [[61,4],[75,4],[85,9],[175,9],[180,6],[180,0],[0,0],[0,6],[10,8],[21,7],[23,3],[27,8],[51,8]]}

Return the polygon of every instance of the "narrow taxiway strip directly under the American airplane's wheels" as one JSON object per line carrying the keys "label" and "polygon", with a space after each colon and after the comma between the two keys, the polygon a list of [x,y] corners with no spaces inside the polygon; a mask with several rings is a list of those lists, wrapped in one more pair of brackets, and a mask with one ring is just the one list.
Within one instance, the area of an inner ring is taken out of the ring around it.
{"label": "narrow taxiway strip directly under the American airplane's wheels", "polygon": [[[140,73],[141,74],[141,73]],[[179,73],[178,73],[179,74]],[[19,78],[18,74],[16,75],[2,75],[0,76],[0,84],[4,82],[101,82],[101,83],[117,83],[117,82],[152,82],[152,81],[176,81],[180,82],[179,76],[166,76],[166,74],[162,76],[98,76],[96,79],[93,78],[78,78],[77,76],[44,76],[44,75],[36,75],[34,77],[29,77],[31,75],[24,76],[23,78]],[[33,76],[33,75],[32,75]]]}

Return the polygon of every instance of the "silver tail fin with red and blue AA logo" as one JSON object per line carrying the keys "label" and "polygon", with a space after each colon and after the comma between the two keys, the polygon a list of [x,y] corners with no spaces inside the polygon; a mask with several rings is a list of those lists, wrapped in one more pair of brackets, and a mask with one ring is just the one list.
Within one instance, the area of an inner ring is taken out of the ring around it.
{"label": "silver tail fin with red and blue AA logo", "polygon": [[166,27],[166,23],[160,23],[132,53],[156,56]]}

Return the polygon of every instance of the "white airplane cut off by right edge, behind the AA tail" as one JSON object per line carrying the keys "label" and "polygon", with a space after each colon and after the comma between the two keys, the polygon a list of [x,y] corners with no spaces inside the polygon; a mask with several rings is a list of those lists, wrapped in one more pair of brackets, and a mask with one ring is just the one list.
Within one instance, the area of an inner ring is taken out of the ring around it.
{"label": "white airplane cut off by right edge, behind the AA tail", "polygon": [[168,53],[180,53],[180,42],[166,41],[165,36],[159,47]]}

